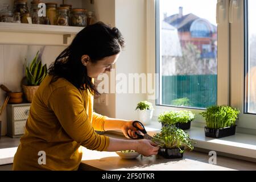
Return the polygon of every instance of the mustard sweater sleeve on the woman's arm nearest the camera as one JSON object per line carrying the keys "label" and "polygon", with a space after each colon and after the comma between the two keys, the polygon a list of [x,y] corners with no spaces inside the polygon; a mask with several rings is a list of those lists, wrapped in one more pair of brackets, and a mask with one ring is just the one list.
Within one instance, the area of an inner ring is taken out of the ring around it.
{"label": "mustard sweater sleeve on the woman's arm nearest the camera", "polygon": [[90,150],[105,151],[109,137],[98,135],[88,119],[79,90],[63,86],[54,90],[48,100],[65,132]]}

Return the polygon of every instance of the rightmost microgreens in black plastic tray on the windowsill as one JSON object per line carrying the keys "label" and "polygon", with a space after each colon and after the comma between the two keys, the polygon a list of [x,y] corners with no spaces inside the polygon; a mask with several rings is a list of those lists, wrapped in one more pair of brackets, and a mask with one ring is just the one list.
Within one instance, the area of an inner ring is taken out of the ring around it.
{"label": "rightmost microgreens in black plastic tray on the windowsill", "polygon": [[210,106],[200,113],[206,121],[205,137],[222,138],[236,133],[240,111],[230,106]]}

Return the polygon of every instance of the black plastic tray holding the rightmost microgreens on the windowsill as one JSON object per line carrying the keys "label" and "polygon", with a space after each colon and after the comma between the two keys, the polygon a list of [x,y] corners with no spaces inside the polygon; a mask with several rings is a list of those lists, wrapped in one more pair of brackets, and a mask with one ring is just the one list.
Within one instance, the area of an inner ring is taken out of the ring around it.
{"label": "black plastic tray holding the rightmost microgreens on the windowsill", "polygon": [[228,137],[230,135],[236,134],[236,125],[230,127],[224,127],[222,129],[210,129],[209,127],[204,127],[205,137],[212,138],[222,138]]}

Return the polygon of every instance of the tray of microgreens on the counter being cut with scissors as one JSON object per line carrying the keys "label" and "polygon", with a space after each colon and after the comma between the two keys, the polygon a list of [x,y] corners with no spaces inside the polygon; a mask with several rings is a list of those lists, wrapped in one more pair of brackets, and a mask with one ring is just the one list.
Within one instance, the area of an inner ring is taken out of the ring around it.
{"label": "tray of microgreens on the counter being cut with scissors", "polygon": [[193,150],[192,140],[183,130],[175,126],[164,126],[152,141],[161,143],[158,155],[167,159],[183,158],[185,149]]}

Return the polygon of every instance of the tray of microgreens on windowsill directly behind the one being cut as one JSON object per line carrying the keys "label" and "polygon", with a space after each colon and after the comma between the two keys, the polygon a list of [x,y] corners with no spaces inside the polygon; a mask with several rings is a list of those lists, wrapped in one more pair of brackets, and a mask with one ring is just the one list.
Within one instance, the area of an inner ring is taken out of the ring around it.
{"label": "tray of microgreens on windowsill directly behind the one being cut", "polygon": [[168,111],[158,117],[162,126],[175,125],[182,130],[190,129],[193,119],[195,119],[195,114],[188,110]]}

